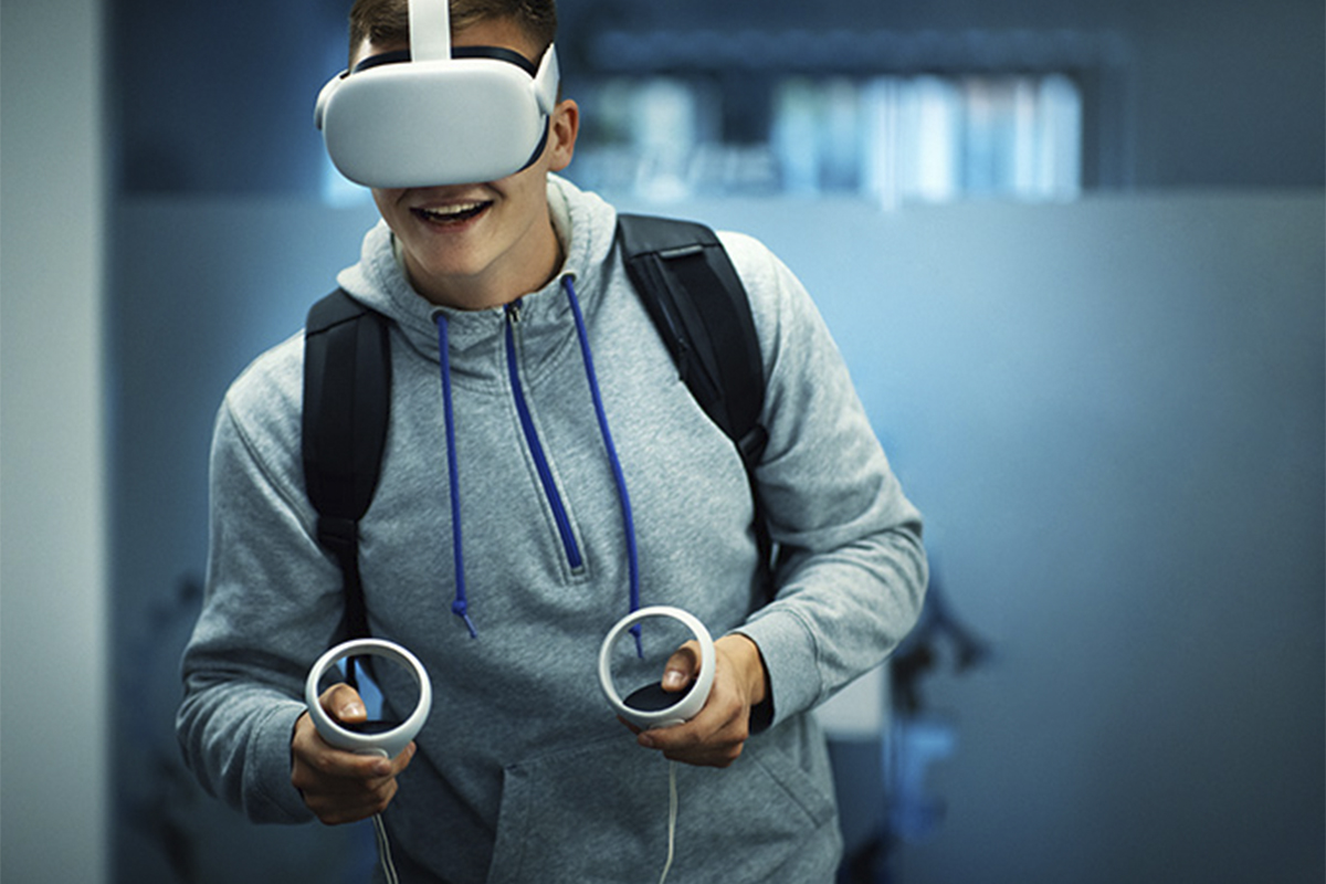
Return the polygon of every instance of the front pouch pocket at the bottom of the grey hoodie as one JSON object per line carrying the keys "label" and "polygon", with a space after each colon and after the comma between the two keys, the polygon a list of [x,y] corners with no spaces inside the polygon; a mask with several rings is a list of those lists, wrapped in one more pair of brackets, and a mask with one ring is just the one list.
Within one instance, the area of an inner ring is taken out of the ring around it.
{"label": "front pouch pocket at the bottom of the grey hoodie", "polygon": [[[678,765],[670,879],[833,879],[839,842],[831,793],[760,742],[724,770]],[[658,880],[667,860],[668,765],[623,734],[507,767],[488,884]]]}

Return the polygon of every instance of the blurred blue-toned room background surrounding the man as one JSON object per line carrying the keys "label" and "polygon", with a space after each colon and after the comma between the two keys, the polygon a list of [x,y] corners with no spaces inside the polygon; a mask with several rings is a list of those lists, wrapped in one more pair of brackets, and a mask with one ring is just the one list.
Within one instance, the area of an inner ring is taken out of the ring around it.
{"label": "blurred blue-toned room background surrounding the man", "polygon": [[[0,5],[0,876],[363,880],[171,720],[229,380],[375,211],[347,0]],[[1319,0],[561,0],[568,176],[758,236],[927,516],[842,881],[1326,875]]]}

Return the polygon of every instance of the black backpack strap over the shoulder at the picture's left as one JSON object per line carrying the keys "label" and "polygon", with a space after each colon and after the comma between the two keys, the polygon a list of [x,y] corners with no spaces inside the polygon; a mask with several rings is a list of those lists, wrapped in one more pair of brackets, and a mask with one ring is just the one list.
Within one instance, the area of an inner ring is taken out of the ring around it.
{"label": "black backpack strap over the shoulder at the picture's left", "polygon": [[351,637],[369,634],[358,522],[378,486],[390,404],[387,322],[337,289],[309,309],[305,325],[302,455],[318,543],[345,579]]}

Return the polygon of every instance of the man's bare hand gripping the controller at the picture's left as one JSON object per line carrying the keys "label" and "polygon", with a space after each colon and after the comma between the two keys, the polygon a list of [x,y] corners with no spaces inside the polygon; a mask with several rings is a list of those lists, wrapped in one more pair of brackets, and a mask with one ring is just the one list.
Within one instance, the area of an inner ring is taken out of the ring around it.
{"label": "man's bare hand gripping the controller at the picture's left", "polygon": [[[346,725],[367,718],[358,692],[347,684],[328,688],[318,702],[332,718]],[[322,740],[305,712],[290,738],[290,785],[325,824],[354,823],[386,810],[396,794],[396,777],[410,766],[414,754],[412,742],[391,759],[337,749]]]}

